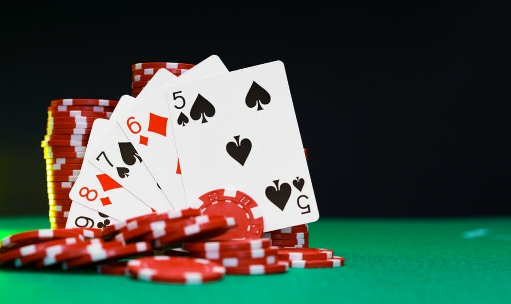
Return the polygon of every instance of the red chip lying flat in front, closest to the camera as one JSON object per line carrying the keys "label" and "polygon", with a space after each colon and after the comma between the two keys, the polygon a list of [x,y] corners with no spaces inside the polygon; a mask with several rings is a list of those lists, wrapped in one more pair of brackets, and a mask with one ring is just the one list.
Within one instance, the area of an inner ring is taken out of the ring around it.
{"label": "red chip lying flat in front, closest to the camera", "polygon": [[204,259],[156,256],[130,260],[128,273],[142,281],[201,284],[221,280],[225,267]]}

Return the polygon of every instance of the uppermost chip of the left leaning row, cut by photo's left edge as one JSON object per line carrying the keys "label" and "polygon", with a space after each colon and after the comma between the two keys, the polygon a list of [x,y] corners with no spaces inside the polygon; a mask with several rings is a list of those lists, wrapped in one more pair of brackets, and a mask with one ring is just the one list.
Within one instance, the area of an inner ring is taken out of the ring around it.
{"label": "uppermost chip of the left leaning row, cut by photo's left edge", "polygon": [[[38,229],[7,236],[0,241],[0,248],[9,249],[55,239],[76,237],[77,233],[67,230]],[[81,237],[83,240],[83,237]]]}

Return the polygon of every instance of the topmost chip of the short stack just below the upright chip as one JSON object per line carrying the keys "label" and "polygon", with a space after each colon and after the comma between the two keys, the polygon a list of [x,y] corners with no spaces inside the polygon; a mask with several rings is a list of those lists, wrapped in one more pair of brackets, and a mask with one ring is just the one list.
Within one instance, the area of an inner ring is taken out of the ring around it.
{"label": "topmost chip of the short stack just below the upright chip", "polygon": [[268,239],[232,239],[216,242],[183,243],[183,249],[188,251],[218,252],[220,250],[259,249],[270,246]]}

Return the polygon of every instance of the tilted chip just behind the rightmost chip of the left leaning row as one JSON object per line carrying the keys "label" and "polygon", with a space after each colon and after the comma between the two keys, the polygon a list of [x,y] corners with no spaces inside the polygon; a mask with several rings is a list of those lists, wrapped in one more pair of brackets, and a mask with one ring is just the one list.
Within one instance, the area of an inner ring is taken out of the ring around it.
{"label": "tilted chip just behind the rightmost chip of the left leaning row", "polygon": [[55,265],[64,261],[73,260],[87,255],[92,250],[99,250],[114,246],[123,246],[120,242],[103,242],[101,239],[90,239],[79,244],[61,245],[47,250],[45,255],[36,263],[37,268]]}

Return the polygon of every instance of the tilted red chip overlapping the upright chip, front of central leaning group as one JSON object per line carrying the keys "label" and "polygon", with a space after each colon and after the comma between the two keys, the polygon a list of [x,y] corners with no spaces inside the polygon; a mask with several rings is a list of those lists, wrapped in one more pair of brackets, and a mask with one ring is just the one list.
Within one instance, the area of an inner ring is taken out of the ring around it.
{"label": "tilted red chip overlapping the upright chip, front of central leaning group", "polygon": [[156,248],[162,248],[179,242],[211,239],[235,227],[236,220],[234,217],[215,218],[206,223],[195,223],[179,227],[175,231],[156,239],[154,245]]}

